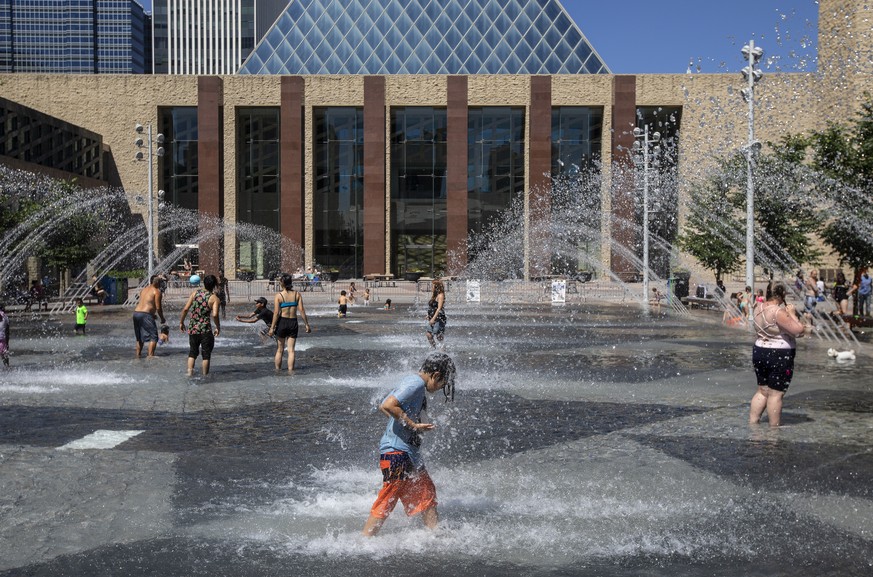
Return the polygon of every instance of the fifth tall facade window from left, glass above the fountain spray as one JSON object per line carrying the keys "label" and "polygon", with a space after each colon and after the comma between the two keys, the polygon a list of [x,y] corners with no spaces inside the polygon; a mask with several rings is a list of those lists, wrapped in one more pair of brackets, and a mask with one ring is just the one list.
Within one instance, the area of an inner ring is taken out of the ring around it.
{"label": "fifth tall facade window from left, glass above the fountain spray", "polygon": [[[467,121],[468,233],[487,230],[524,193],[524,109],[471,108]],[[476,257],[471,245],[471,259]]]}

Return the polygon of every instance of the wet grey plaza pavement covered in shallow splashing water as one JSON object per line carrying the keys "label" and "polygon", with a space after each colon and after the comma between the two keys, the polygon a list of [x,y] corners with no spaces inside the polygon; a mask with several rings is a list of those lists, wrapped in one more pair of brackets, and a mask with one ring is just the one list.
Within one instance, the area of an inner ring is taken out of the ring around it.
{"label": "wet grey plaza pavement covered in shallow splashing water", "polygon": [[191,379],[184,335],[135,360],[130,311],[94,309],[86,337],[13,317],[2,576],[873,574],[867,351],[801,342],[771,431],[747,424],[749,335],[711,313],[453,304],[441,527],[398,510],[368,540],[376,404],[427,354],[423,310],[311,305],[290,376],[230,321]]}

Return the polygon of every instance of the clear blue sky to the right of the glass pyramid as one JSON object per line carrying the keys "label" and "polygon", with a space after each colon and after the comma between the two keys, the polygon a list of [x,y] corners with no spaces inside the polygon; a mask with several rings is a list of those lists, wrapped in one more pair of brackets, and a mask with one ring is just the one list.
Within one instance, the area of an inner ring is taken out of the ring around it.
{"label": "clear blue sky to the right of the glass pyramid", "polygon": [[[616,74],[733,72],[750,39],[764,70],[814,70],[816,0],[563,0]],[[147,11],[151,0],[142,2]]]}

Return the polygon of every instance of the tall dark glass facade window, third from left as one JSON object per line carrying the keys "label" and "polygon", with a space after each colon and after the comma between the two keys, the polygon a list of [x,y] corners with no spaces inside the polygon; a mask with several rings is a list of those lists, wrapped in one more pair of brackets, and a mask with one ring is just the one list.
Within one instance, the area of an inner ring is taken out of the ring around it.
{"label": "tall dark glass facade window, third from left", "polygon": [[315,246],[322,270],[360,278],[364,261],[364,113],[315,109]]}

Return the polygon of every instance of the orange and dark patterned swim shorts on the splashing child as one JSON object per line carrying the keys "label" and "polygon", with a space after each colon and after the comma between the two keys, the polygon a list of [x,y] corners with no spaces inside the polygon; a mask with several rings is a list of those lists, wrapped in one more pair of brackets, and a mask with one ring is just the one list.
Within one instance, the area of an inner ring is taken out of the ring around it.
{"label": "orange and dark patterned swim shorts on the splashing child", "polygon": [[385,519],[394,510],[397,501],[403,503],[407,515],[417,515],[436,507],[436,487],[427,471],[415,469],[409,455],[392,451],[379,456],[382,470],[382,490],[370,509],[370,514]]}

